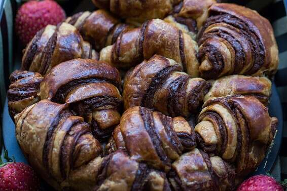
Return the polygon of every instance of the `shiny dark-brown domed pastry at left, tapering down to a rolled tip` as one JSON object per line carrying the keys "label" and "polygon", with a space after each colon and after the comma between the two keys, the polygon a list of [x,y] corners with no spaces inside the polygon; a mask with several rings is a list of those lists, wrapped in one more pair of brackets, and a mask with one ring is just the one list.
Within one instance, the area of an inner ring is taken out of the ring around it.
{"label": "shiny dark-brown domed pastry at left, tapering down to a rolled tip", "polygon": [[41,99],[68,103],[72,113],[91,124],[98,140],[109,138],[120,122],[122,96],[119,71],[91,59],[63,62],[51,69],[41,83]]}

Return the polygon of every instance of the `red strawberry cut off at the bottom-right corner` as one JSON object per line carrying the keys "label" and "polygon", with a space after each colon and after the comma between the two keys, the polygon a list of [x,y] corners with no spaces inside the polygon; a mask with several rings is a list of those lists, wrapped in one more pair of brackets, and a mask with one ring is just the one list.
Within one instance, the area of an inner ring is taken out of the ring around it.
{"label": "red strawberry cut off at the bottom-right corner", "polygon": [[237,191],[284,191],[284,189],[273,177],[260,174],[245,180]]}

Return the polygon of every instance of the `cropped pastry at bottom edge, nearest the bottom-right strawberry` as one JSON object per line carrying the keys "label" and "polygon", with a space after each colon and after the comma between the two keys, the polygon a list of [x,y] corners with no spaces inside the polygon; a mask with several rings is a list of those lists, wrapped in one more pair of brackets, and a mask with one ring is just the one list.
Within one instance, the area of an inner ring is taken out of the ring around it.
{"label": "cropped pastry at bottom edge, nearest the bottom-right strawberry", "polygon": [[234,189],[235,170],[222,158],[197,148],[172,164],[169,180],[175,191],[227,191]]}

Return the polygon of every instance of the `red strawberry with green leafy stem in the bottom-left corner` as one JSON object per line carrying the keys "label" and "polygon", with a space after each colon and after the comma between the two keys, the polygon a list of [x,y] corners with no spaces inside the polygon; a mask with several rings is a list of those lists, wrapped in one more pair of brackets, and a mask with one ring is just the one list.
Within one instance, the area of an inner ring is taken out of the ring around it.
{"label": "red strawberry with green leafy stem in the bottom-left corner", "polygon": [[8,158],[5,151],[4,158],[8,161],[2,163],[0,158],[0,190],[37,191],[40,190],[40,181],[33,169],[24,164],[16,163]]}

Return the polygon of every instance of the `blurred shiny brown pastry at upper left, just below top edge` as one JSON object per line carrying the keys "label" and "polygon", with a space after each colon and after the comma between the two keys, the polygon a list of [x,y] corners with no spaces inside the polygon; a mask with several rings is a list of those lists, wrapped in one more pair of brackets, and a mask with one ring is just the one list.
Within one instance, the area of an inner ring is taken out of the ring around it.
{"label": "blurred shiny brown pastry at upper left, just below top edge", "polygon": [[74,25],[83,39],[97,51],[114,44],[122,31],[130,27],[104,10],[80,12],[68,17],[65,22]]}

